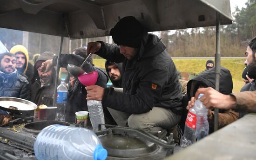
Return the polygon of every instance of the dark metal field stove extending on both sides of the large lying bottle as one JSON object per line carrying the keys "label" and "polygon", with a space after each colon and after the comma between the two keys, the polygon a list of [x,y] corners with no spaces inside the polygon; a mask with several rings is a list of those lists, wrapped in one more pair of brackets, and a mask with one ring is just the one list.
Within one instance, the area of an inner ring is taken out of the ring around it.
{"label": "dark metal field stove extending on both sides of the large lying bottle", "polygon": [[[0,127],[0,151],[8,149],[15,153],[17,159],[7,160],[36,160],[33,147],[37,134],[42,128],[56,122],[58,121],[13,123],[12,128],[8,125]],[[58,122],[69,125],[66,123]],[[175,146],[172,138],[163,141],[152,134],[133,128],[111,126],[95,134],[108,151],[107,160],[161,160],[173,154]]]}

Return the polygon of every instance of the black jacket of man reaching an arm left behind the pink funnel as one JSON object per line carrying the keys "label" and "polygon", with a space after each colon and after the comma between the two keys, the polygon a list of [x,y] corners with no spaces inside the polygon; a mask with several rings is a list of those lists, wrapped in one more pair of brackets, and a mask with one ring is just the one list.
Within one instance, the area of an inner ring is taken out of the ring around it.
{"label": "black jacket of man reaching an arm left behind the pink funnel", "polygon": [[[53,58],[53,65],[57,64],[57,56]],[[67,64],[74,64],[76,66],[80,66],[83,62],[84,58],[79,55],[74,54],[61,54],[60,59],[60,67],[65,67],[67,69]],[[89,62],[86,62],[82,68],[84,71],[92,72],[94,70],[98,70],[98,79],[96,85],[99,85],[103,88],[106,88],[108,83],[108,76],[103,69],[98,67],[94,67]],[[76,81],[78,85],[76,88],[72,88],[68,90],[67,94],[67,105],[66,105],[66,118],[67,122],[74,122],[74,113],[78,111],[88,111],[87,107],[87,91],[85,90],[85,86],[82,85],[79,81]]]}

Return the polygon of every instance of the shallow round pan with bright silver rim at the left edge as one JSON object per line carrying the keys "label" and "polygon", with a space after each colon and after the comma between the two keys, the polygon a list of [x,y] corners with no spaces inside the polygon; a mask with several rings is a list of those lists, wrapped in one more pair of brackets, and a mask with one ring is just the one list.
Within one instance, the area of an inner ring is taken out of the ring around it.
{"label": "shallow round pan with bright silver rim at the left edge", "polygon": [[0,97],[0,109],[15,114],[26,114],[33,113],[37,105],[33,102],[27,101],[21,98],[15,97]]}

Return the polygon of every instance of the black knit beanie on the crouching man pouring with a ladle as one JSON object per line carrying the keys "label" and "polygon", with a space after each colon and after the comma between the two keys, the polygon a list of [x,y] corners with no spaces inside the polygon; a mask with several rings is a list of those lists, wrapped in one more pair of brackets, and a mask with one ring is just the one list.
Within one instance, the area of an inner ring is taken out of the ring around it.
{"label": "black knit beanie on the crouching man pouring with a ladle", "polygon": [[139,48],[145,32],[146,29],[135,17],[128,16],[117,22],[114,28],[111,29],[110,35],[117,45]]}

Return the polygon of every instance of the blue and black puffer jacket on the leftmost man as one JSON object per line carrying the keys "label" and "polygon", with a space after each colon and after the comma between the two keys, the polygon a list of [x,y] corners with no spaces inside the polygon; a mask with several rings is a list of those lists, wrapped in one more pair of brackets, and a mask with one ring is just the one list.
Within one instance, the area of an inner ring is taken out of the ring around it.
{"label": "blue and black puffer jacket on the leftmost man", "polygon": [[29,100],[27,76],[19,71],[11,74],[0,73],[0,96],[11,96]]}

